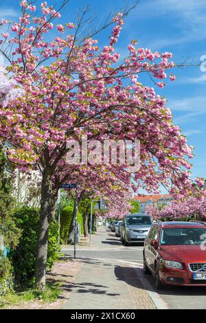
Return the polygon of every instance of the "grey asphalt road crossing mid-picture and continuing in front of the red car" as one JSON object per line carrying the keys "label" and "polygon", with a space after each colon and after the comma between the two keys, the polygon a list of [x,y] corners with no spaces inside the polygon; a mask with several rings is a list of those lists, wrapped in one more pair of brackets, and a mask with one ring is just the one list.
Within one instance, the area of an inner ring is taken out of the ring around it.
{"label": "grey asphalt road crossing mid-picture and continuing in front of the red car", "polygon": [[[92,236],[91,247],[79,247],[78,258],[110,260],[111,262],[128,263],[138,267],[143,264],[142,245],[125,247],[113,232],[101,227],[98,234]],[[73,248],[62,250],[67,256],[73,256]],[[142,270],[142,269],[140,269]],[[144,276],[155,289],[152,275]],[[206,309],[206,287],[165,287],[158,291],[168,309]]]}

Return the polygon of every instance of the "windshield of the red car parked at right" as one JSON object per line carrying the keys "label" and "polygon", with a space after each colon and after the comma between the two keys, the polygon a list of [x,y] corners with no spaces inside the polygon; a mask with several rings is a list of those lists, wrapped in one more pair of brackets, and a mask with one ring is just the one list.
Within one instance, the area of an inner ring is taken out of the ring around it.
{"label": "windshield of the red car parked at right", "polygon": [[206,228],[183,227],[163,229],[161,245],[201,245],[206,243]]}

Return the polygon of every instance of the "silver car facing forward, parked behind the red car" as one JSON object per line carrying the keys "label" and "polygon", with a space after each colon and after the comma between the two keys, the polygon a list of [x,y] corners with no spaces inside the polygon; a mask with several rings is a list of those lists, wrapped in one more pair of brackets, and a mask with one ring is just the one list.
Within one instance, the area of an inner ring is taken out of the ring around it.
{"label": "silver car facing forward, parked behind the red car", "polygon": [[124,245],[143,243],[151,225],[152,219],[148,214],[126,214],[121,226],[120,240]]}

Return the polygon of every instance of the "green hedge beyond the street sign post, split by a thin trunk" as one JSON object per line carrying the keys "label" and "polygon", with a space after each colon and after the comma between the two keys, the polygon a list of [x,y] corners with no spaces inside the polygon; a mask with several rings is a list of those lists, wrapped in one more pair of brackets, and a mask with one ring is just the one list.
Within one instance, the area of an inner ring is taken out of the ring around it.
{"label": "green hedge beyond the street sign post, split by a thin trunk", "polygon": [[[71,225],[71,219],[73,214],[73,206],[65,206],[60,212],[60,238],[63,243],[67,243],[69,235],[69,227]],[[83,232],[83,217],[82,213],[78,211],[77,221],[80,224],[80,231]]]}

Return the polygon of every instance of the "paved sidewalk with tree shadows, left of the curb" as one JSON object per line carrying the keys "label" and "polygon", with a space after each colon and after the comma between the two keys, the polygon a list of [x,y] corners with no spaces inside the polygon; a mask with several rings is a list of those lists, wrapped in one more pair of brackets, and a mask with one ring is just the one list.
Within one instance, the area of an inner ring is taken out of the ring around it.
{"label": "paved sidewalk with tree shadows, left of the curb", "polygon": [[[103,229],[103,228],[102,228]],[[93,235],[92,247],[101,247],[103,230]],[[133,267],[104,259],[78,260],[82,267],[62,309],[156,309]]]}

